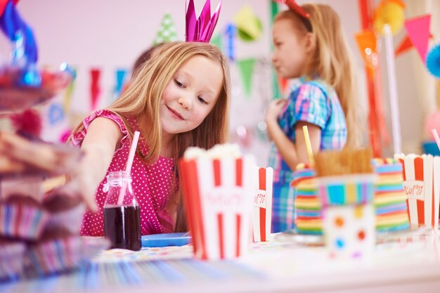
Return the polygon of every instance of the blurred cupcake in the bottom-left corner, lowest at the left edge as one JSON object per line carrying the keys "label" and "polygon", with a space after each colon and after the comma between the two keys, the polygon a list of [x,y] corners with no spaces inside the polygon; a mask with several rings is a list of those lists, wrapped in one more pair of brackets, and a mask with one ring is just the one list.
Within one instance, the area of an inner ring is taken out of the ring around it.
{"label": "blurred cupcake in the bottom-left corner, lowest at the left edge", "polygon": [[0,282],[20,277],[25,249],[24,242],[0,238]]}

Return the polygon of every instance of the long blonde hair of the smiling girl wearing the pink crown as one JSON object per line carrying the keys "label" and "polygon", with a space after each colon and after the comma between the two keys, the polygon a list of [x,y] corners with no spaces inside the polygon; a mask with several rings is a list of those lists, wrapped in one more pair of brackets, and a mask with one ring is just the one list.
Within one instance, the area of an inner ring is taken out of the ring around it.
{"label": "long blonde hair of the smiling girl wearing the pink crown", "polygon": [[[230,75],[228,63],[219,48],[202,42],[169,42],[157,48],[153,59],[145,62],[135,74],[129,88],[115,100],[108,110],[122,119],[122,122],[133,137],[135,129],[128,123],[128,117],[137,119],[140,125],[141,138],[144,138],[149,151],[143,157],[139,148],[137,153],[145,164],[152,164],[160,155],[162,142],[162,126],[160,124],[159,107],[164,89],[179,68],[194,56],[205,56],[221,65],[223,84],[214,108],[200,126],[192,131],[176,134],[172,140],[172,158],[174,159],[175,175],[179,174],[178,161],[183,152],[190,146],[212,148],[217,143],[226,143],[229,136],[229,103]],[[84,129],[80,124],[72,134]],[[180,194],[175,200],[181,203]],[[181,208],[178,206],[178,209]],[[177,222],[184,222],[183,214],[178,211]]]}

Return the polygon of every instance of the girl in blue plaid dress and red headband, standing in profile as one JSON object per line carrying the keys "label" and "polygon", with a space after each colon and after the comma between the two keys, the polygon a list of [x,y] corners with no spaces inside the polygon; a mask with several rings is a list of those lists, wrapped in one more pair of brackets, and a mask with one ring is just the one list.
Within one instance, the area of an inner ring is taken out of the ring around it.
{"label": "girl in blue plaid dress and red headband, standing in profile", "polygon": [[290,7],[273,22],[272,61],[281,77],[298,80],[289,97],[273,100],[265,115],[273,141],[273,233],[294,228],[292,171],[309,162],[302,126],[313,153],[355,147],[360,136],[356,79],[339,16],[323,4]]}

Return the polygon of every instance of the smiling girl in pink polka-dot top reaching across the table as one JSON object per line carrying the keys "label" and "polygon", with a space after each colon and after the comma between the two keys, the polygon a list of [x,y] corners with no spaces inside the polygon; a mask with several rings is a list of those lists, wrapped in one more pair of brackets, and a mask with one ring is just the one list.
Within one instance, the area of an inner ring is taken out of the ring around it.
{"label": "smiling girl in pink polka-dot top reaching across the table", "polygon": [[227,60],[216,46],[163,44],[122,96],[72,131],[71,141],[85,157],[82,173],[72,176],[69,186],[91,209],[84,214],[81,235],[104,234],[105,176],[124,169],[134,131],[141,132],[131,178],[142,235],[184,230],[177,162],[189,146],[226,143],[229,84]]}

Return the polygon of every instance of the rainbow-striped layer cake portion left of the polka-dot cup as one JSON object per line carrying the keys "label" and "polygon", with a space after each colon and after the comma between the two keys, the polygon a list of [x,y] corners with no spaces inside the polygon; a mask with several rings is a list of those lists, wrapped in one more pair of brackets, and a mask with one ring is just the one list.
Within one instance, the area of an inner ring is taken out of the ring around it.
{"label": "rainbow-striped layer cake portion left of the polka-dot cup", "polygon": [[295,188],[295,229],[298,234],[323,234],[323,214],[315,178],[315,170],[304,164],[298,164],[293,174],[291,185]]}

